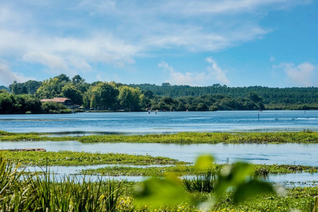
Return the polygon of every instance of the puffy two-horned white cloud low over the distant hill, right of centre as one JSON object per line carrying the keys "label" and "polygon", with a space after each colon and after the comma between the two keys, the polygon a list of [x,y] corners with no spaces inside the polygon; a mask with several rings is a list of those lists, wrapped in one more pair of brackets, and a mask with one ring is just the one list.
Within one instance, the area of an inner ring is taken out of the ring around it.
{"label": "puffy two-horned white cloud low over the distant hill, right of centre", "polygon": [[207,67],[206,72],[176,72],[172,66],[168,63],[162,61],[158,64],[158,67],[162,67],[164,70],[169,72],[169,79],[166,82],[175,85],[211,85],[211,82],[221,82],[228,84],[230,81],[226,78],[225,72],[218,67],[218,64],[208,57],[205,59],[207,62],[211,63],[211,66]]}

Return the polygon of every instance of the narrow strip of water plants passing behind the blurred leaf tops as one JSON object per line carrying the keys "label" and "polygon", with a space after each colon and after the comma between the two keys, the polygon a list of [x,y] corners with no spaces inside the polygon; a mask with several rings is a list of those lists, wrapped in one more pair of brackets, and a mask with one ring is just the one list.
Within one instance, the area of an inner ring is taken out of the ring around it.
{"label": "narrow strip of water plants passing behind the blurred leaf tops", "polygon": [[[220,173],[227,164],[213,164],[209,171],[212,173]],[[254,175],[267,175],[267,174],[288,174],[288,173],[315,173],[318,172],[318,167],[303,166],[303,165],[264,165],[264,164],[251,164]],[[166,176],[169,173],[174,173],[178,176],[202,174],[194,165],[178,165],[167,167],[103,167],[96,169],[84,169],[79,174],[87,175],[104,175],[104,176]]]}

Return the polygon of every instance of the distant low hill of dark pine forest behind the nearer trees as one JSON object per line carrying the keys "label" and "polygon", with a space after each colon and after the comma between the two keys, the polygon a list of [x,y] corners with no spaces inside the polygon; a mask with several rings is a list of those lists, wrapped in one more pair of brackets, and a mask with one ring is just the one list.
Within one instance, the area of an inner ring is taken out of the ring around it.
{"label": "distant low hill of dark pine forest behind the nearer trees", "polygon": [[255,92],[263,97],[265,104],[308,104],[318,103],[317,87],[292,87],[292,88],[270,88],[262,86],[249,87],[227,87],[215,84],[211,86],[198,87],[190,85],[160,85],[152,84],[130,84],[132,87],[140,87],[141,90],[151,91],[156,95],[169,96],[172,98],[184,96],[201,96],[206,94],[221,94],[230,97],[246,97],[249,92]]}

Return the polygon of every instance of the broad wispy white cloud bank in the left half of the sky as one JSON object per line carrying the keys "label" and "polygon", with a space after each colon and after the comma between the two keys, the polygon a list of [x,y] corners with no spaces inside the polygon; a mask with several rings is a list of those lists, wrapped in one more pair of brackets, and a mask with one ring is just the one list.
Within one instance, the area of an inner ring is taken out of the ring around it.
{"label": "broad wispy white cloud bank in the left half of the sky", "polygon": [[21,57],[25,62],[45,65],[52,72],[90,71],[89,63],[98,62],[122,67],[134,63],[132,57],[139,51],[138,47],[100,33],[87,38],[52,38],[0,30],[0,38],[0,56]]}

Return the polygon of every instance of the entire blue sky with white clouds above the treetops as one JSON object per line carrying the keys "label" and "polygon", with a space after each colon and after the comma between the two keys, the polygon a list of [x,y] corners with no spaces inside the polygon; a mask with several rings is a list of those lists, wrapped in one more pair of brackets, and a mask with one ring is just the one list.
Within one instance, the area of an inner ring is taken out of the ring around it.
{"label": "entire blue sky with white clouds above the treetops", "polygon": [[318,86],[315,0],[0,0],[0,85]]}

